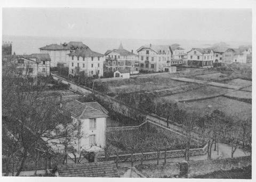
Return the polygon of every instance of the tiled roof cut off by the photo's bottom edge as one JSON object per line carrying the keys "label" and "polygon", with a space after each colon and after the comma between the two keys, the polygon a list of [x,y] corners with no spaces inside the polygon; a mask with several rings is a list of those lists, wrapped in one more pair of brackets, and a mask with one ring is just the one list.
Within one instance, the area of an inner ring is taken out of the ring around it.
{"label": "tiled roof cut off by the photo's bottom edge", "polygon": [[60,177],[120,177],[114,161],[59,165],[57,171]]}

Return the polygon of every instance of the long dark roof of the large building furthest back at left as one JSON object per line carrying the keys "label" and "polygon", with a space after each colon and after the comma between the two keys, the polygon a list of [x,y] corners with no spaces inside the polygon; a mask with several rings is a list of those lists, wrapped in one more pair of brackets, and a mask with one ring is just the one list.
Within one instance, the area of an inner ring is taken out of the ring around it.
{"label": "long dark roof of the large building furthest back at left", "polygon": [[69,43],[63,43],[63,44],[60,44],[60,45],[58,45],[58,44],[46,45],[46,46],[41,47],[39,49],[41,49],[41,50],[69,50],[69,49],[75,49],[75,48],[90,49],[83,42],[74,42],[74,41],[71,41]]}

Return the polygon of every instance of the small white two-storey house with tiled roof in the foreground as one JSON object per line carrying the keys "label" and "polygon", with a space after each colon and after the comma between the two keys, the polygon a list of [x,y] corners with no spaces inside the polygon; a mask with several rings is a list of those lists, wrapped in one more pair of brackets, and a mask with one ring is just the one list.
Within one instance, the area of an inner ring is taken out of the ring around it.
{"label": "small white two-storey house with tiled roof in the foreground", "polygon": [[106,119],[108,111],[98,102],[79,102],[77,100],[67,103],[63,110],[71,114],[73,122],[79,124],[81,136],[75,142],[77,152],[91,151],[92,146],[103,148],[106,144]]}

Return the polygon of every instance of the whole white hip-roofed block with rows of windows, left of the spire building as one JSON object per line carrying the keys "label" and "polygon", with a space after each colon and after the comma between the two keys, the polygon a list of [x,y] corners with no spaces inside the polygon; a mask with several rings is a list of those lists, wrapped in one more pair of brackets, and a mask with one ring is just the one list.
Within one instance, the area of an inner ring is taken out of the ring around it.
{"label": "whole white hip-roofed block with rows of windows, left of the spire building", "polygon": [[103,54],[91,51],[91,49],[83,48],[71,52],[69,55],[69,75],[77,75],[84,71],[85,76],[103,77],[103,63],[105,56]]}

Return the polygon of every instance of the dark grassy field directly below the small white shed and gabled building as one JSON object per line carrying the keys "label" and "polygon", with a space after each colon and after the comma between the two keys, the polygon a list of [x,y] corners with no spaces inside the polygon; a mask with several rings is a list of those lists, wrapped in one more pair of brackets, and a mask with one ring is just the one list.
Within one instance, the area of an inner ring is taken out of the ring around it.
{"label": "dark grassy field directly below the small white shed and gabled building", "polygon": [[157,75],[146,78],[140,77],[130,78],[129,80],[108,81],[106,84],[108,85],[110,92],[115,94],[121,91],[125,91],[126,93],[135,92],[135,85],[141,85],[141,90],[151,92],[154,90],[167,89],[188,84],[187,82],[175,81],[170,78],[171,76],[169,74],[164,74],[163,76]]}

